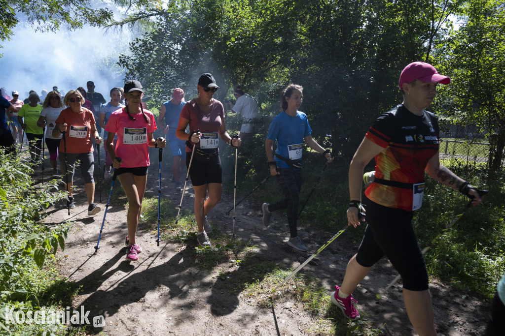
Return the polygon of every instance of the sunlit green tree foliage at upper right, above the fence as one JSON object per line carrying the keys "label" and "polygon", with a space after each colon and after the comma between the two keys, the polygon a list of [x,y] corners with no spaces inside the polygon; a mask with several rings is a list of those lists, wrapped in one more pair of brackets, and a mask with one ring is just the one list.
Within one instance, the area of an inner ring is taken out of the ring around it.
{"label": "sunlit green tree foliage at upper right, above the fence", "polygon": [[505,9],[502,0],[470,0],[458,14],[463,23],[437,46],[439,71],[451,77],[440,93],[455,122],[495,141],[488,154],[496,171],[505,148]]}

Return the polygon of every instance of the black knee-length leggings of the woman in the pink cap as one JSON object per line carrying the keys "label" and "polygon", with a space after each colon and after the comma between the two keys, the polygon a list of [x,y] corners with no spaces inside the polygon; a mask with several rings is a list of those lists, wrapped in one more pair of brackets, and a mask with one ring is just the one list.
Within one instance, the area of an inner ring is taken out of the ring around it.
{"label": "black knee-length leggings of the woman in the pink cap", "polygon": [[412,227],[414,213],[378,205],[367,197],[364,203],[368,225],[356,261],[371,267],[386,255],[401,275],[403,288],[427,290],[428,271]]}

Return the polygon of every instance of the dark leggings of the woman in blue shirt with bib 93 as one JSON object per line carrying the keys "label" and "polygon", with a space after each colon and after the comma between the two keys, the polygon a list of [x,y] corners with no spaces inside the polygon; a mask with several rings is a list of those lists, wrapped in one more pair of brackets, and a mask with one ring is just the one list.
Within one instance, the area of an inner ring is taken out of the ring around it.
{"label": "dark leggings of the woman in blue shirt with bib 93", "polygon": [[280,168],[276,176],[279,187],[284,194],[284,199],[268,206],[269,211],[287,209],[287,223],[291,238],[296,237],[296,217],[298,216],[298,203],[301,189],[301,170]]}

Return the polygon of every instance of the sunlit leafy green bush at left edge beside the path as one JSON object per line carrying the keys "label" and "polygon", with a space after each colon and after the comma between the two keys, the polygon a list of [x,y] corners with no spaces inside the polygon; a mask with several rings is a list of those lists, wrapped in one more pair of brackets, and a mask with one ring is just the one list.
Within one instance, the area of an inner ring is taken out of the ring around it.
{"label": "sunlit leafy green bush at left edge beside the path", "polygon": [[49,192],[57,181],[35,188],[31,167],[19,157],[0,153],[0,158],[0,292],[25,293],[20,267],[33,262],[42,267],[49,253],[65,248],[69,225],[43,224],[45,209],[64,198],[64,194]]}

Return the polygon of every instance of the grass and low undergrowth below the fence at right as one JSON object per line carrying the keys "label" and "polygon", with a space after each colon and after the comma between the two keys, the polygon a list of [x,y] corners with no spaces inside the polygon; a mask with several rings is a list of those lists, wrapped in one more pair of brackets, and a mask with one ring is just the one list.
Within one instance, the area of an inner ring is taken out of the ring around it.
{"label": "grass and low undergrowth below the fence at right", "polygon": [[[469,209],[425,254],[431,275],[448,279],[456,288],[492,298],[496,283],[505,273],[505,193],[503,183],[486,184],[481,166],[456,165],[448,168],[470,182],[488,189],[484,203]],[[463,174],[465,173],[465,174]],[[499,176],[503,180],[504,176]],[[432,179],[427,180],[422,211],[414,225],[421,247],[438,235],[453,216],[468,203],[458,191],[449,191]]]}

